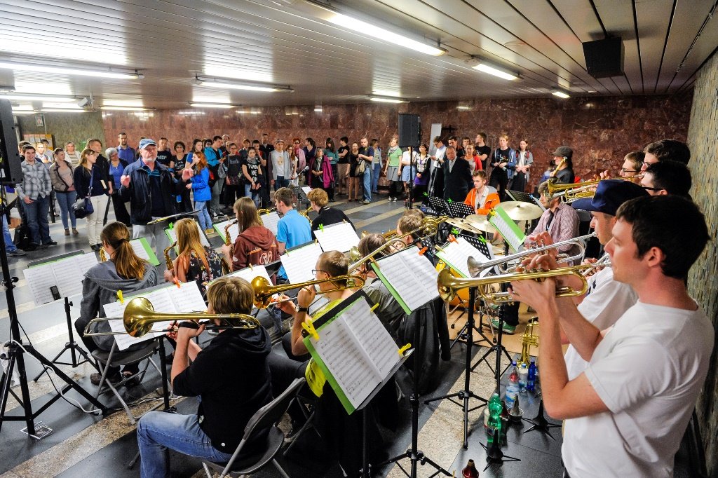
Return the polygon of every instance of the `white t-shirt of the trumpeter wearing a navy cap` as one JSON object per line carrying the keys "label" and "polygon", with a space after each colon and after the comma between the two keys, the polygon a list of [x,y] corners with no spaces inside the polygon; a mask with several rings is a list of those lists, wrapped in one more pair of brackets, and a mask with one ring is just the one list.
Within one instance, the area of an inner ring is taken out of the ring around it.
{"label": "white t-shirt of the trumpeter wearing a navy cap", "polygon": [[[588,322],[597,329],[605,330],[611,327],[625,311],[630,309],[638,300],[633,288],[627,283],[613,280],[613,270],[610,267],[598,271],[589,278],[588,295],[584,297],[577,309]],[[569,380],[574,380],[586,369],[588,362],[581,358],[573,345],[569,345],[564,355]]]}

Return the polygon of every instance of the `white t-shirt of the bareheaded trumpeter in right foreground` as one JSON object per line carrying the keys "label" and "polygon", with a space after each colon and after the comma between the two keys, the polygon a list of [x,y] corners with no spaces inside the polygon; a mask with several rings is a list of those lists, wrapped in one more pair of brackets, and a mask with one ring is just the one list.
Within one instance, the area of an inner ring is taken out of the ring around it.
{"label": "white t-shirt of the bareheaded trumpeter in right foreground", "polygon": [[593,353],[586,377],[610,411],[566,421],[572,477],[671,477],[708,372],[713,327],[700,309],[638,301]]}

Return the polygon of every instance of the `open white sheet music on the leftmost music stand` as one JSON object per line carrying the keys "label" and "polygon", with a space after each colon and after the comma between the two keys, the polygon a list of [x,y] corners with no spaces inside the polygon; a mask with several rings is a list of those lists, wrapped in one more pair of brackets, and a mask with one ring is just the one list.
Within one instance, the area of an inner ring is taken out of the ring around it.
{"label": "open white sheet music on the leftmost music stand", "polygon": [[35,305],[42,305],[55,300],[50,292],[52,286],[57,286],[60,296],[63,297],[81,294],[85,272],[97,263],[98,259],[94,253],[78,253],[55,261],[48,258],[47,262],[29,267],[22,272],[32,291]]}

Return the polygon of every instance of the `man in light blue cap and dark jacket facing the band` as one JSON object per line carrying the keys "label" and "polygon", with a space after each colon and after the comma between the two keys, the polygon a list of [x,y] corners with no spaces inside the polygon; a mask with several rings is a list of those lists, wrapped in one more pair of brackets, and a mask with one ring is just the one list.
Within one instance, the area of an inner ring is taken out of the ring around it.
{"label": "man in light blue cap and dark jacket facing the band", "polygon": [[147,222],[177,213],[177,197],[182,200],[182,190],[190,187],[192,170],[182,170],[181,179],[175,179],[170,169],[156,161],[157,144],[153,139],[141,140],[138,149],[140,159],[126,167],[120,178],[120,195],[123,201],[130,202],[132,238],[147,238],[159,256],[167,247],[165,223]]}

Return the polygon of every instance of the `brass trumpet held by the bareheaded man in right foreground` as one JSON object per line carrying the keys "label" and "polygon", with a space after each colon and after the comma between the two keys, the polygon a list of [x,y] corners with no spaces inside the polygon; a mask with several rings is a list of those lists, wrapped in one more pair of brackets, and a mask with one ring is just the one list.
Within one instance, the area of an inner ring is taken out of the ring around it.
{"label": "brass trumpet held by the bareheaded man in right foreground", "polygon": [[511,294],[508,292],[491,291],[488,286],[495,283],[526,281],[527,279],[541,281],[549,277],[575,276],[581,280],[581,289],[576,290],[567,286],[556,287],[556,297],[575,297],[586,294],[586,291],[588,290],[588,283],[586,278],[583,276],[582,271],[592,267],[594,267],[593,264],[582,264],[580,266],[559,267],[552,271],[516,272],[501,274],[499,276],[486,276],[482,278],[457,278],[452,276],[452,273],[448,269],[444,269],[439,272],[439,277],[437,278],[437,289],[439,289],[439,296],[444,302],[452,301],[459,289],[477,287],[479,294],[484,301],[491,302],[493,304],[505,304],[507,302],[513,302]]}

